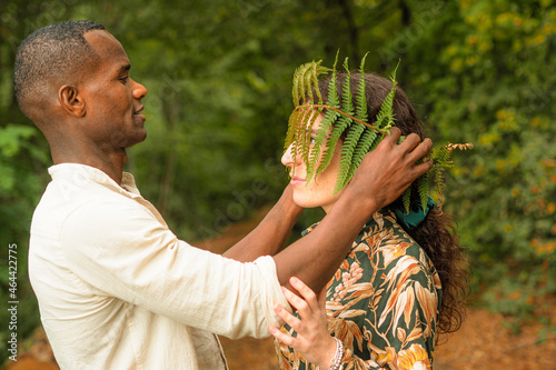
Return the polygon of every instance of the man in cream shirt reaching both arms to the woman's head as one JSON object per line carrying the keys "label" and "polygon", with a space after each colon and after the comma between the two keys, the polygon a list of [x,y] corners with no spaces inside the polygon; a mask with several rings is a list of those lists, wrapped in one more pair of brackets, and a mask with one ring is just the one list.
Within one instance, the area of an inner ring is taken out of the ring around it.
{"label": "man in cream shirt reaching both arms to the woman's head", "polygon": [[216,334],[267,337],[272,308],[287,303],[280,284],[296,276],[319,291],[370,214],[431,167],[416,164],[429,140],[397,146],[393,130],[326,227],[280,251],[302,211],[288,187],[248,237],[214,254],[178,240],[122,172],[126,148],[147,136],[147,90],[129,70],[118,40],[90,21],[48,26],[18,50],[16,97],[54,163],[29,274],[62,369],[225,369]]}

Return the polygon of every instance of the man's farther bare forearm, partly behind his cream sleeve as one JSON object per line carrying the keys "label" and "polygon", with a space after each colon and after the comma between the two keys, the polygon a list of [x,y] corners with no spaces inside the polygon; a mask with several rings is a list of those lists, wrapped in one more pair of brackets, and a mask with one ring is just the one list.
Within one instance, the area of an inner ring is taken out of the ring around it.
{"label": "man's farther bare forearm, partly behind his cream sleeve", "polygon": [[228,249],[224,256],[240,262],[254,261],[260,256],[275,256],[286,243],[302,208],[291,200],[291,188],[284,191],[278,202],[247,237]]}

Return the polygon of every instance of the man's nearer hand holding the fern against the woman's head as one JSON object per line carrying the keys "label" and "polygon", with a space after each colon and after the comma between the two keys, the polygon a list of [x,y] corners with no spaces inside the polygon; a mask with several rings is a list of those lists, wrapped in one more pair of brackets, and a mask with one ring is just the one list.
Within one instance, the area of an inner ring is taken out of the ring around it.
{"label": "man's nearer hand holding the fern against the woman's head", "polygon": [[371,209],[381,209],[433,168],[433,161],[417,164],[430,152],[433,141],[425,139],[421,142],[416,133],[411,133],[398,144],[400,136],[398,128],[391,128],[390,134],[365,156],[344,196],[353,194],[358,202],[367,200]]}

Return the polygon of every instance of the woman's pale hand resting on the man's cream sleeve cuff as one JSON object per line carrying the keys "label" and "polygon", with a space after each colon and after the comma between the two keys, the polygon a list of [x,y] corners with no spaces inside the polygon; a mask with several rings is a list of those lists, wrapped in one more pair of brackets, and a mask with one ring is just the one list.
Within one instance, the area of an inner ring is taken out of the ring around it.
{"label": "woman's pale hand resting on the man's cream sleeve cuff", "polygon": [[337,344],[336,340],[328,333],[325,307],[326,288],[317,297],[309,287],[295,277],[289,279],[289,283],[302,298],[282,287],[284,296],[291,307],[297,309],[301,319],[290,314],[279,304],[275,307],[275,312],[297,332],[297,337],[291,337],[272,326],[269,331],[276,339],[299,351],[308,361],[320,369],[328,369],[336,353]]}

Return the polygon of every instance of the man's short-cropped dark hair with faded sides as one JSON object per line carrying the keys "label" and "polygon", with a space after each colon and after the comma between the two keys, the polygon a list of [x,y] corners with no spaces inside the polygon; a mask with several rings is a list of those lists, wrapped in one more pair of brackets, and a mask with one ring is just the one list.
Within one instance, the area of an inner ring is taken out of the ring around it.
{"label": "man's short-cropped dark hair with faded sides", "polygon": [[19,46],[13,69],[13,90],[27,116],[32,97],[48,93],[49,83],[72,76],[91,58],[98,58],[85,38],[102,24],[88,20],[54,23],[29,34]]}

